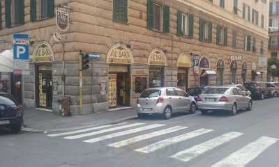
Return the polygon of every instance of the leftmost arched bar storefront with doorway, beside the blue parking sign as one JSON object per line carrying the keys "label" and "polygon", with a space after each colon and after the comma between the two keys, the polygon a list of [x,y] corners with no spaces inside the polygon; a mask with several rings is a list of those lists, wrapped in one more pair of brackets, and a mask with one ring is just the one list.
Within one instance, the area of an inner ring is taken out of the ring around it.
{"label": "leftmost arched bar storefront with doorway, beside the blue parking sign", "polygon": [[54,54],[47,42],[36,45],[33,55],[35,65],[36,106],[52,109],[52,61]]}

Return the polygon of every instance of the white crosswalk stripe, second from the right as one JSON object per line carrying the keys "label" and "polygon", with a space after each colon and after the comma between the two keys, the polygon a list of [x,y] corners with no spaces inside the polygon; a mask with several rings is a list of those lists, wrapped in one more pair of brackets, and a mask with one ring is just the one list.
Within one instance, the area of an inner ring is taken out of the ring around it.
{"label": "white crosswalk stripe, second from the right", "polygon": [[190,161],[191,159],[198,157],[200,154],[212,150],[213,148],[216,148],[219,145],[223,145],[224,143],[232,141],[232,139],[237,138],[241,135],[243,134],[238,132],[229,132],[227,134],[223,134],[199,145],[195,145],[192,148],[178,152],[170,157],[178,159],[180,161]]}

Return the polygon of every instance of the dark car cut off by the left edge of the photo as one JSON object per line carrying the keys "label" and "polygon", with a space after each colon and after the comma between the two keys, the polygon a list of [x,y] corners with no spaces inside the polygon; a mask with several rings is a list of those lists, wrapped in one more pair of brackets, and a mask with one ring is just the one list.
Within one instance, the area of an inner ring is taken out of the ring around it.
{"label": "dark car cut off by the left edge of the photo", "polygon": [[22,119],[22,106],[12,95],[0,93],[0,127],[8,127],[13,133],[20,132]]}

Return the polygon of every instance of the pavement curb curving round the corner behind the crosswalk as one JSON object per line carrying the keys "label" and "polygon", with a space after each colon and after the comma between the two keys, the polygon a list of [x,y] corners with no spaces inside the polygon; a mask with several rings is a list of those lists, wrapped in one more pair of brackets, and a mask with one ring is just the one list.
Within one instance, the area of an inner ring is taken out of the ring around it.
{"label": "pavement curb curving round the corner behind the crosswalk", "polygon": [[112,122],[105,122],[105,123],[99,123],[99,124],[95,124],[95,125],[86,125],[86,126],[82,126],[82,127],[70,127],[70,128],[63,128],[63,129],[33,129],[33,128],[29,128],[29,127],[23,127],[22,128],[22,132],[27,132],[27,133],[51,133],[51,132],[61,132],[61,131],[71,131],[71,130],[77,130],[77,129],[84,129],[84,128],[89,128],[89,127],[98,127],[98,126],[102,126],[102,125],[110,125],[110,124],[116,124],[118,122],[124,121],[124,120],[131,120],[137,118],[137,116],[130,116],[130,117],[126,117],[126,118],[122,118],[119,120],[114,120]]}

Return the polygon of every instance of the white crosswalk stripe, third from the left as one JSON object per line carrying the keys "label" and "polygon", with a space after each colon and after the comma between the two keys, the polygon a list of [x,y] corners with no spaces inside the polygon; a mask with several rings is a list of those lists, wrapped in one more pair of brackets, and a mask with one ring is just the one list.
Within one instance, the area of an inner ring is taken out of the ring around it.
{"label": "white crosswalk stripe, third from the left", "polygon": [[165,126],[165,125],[163,125],[163,124],[153,124],[153,125],[148,125],[148,126],[145,126],[145,127],[138,127],[138,128],[135,128],[135,129],[130,129],[130,130],[123,131],[123,132],[117,132],[117,133],[114,133],[114,134],[108,134],[108,135],[105,135],[105,136],[100,136],[100,137],[97,137],[97,138],[91,138],[91,139],[83,141],[83,142],[96,143],[98,141],[104,141],[104,140],[107,140],[107,139],[110,139],[110,138],[115,138],[115,137],[118,137],[118,136],[124,136],[126,134],[133,134],[133,133],[141,132],[141,131],[144,131],[144,130],[147,130],[147,129],[153,129],[153,128],[156,128],[156,127],[163,127],[163,126]]}

